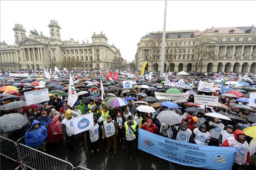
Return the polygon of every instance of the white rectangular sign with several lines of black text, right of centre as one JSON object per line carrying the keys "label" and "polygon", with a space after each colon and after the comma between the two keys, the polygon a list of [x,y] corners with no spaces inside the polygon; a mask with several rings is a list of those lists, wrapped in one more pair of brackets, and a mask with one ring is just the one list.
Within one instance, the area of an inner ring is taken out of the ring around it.
{"label": "white rectangular sign with several lines of black text, right of centre", "polygon": [[218,96],[212,95],[194,95],[194,103],[208,106],[218,106]]}

